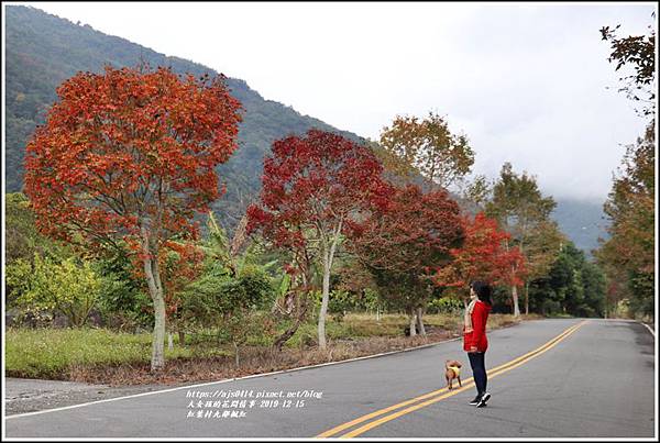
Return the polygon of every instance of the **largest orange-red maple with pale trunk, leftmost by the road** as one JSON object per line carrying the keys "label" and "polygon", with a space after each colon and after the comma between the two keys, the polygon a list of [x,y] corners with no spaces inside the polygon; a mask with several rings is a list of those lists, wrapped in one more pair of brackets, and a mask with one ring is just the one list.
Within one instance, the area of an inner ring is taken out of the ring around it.
{"label": "largest orange-red maple with pale trunk, leftmost by the road", "polygon": [[138,245],[164,366],[165,299],[157,257],[198,234],[193,217],[220,196],[216,166],[237,148],[240,103],[222,76],[106,67],[57,88],[59,101],[26,147],[25,193],[40,230],[94,248]]}

